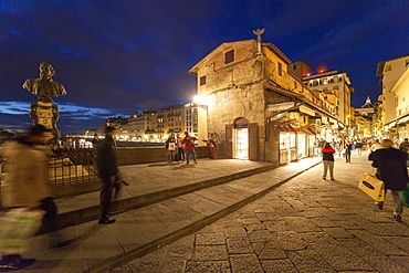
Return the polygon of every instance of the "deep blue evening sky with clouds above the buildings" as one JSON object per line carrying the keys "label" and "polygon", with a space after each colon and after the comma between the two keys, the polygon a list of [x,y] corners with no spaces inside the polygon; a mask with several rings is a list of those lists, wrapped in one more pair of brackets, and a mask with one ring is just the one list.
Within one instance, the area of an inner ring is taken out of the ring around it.
{"label": "deep blue evening sky with clouds above the buildings", "polygon": [[56,71],[67,95],[62,134],[186,103],[196,94],[188,70],[223,42],[274,43],[292,61],[348,73],[353,105],[381,92],[378,62],[409,54],[407,0],[1,0],[0,128],[27,128],[38,96],[23,90],[39,63]]}

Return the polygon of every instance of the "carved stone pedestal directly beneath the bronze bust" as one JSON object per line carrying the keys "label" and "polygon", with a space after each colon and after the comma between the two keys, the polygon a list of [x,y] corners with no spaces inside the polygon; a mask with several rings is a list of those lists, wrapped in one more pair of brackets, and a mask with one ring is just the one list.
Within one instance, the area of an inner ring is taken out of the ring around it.
{"label": "carved stone pedestal directly beneath the bronze bust", "polygon": [[41,124],[51,129],[54,136],[54,138],[51,139],[51,144],[56,144],[60,138],[60,130],[56,128],[56,120],[60,118],[59,106],[53,103],[38,102],[31,103],[30,108],[31,112],[29,115],[33,119],[34,125]]}

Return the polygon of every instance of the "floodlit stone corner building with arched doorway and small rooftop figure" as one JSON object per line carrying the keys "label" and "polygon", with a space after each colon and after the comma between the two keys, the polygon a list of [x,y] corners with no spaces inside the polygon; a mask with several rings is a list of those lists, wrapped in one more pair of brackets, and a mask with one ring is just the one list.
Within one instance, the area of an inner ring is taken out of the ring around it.
{"label": "floodlit stone corner building with arched doorway and small rooftop figure", "polygon": [[291,64],[258,34],[222,43],[189,70],[207,101],[199,123],[217,135],[219,158],[296,160],[312,155],[321,126],[344,126],[325,109],[324,96],[289,73]]}

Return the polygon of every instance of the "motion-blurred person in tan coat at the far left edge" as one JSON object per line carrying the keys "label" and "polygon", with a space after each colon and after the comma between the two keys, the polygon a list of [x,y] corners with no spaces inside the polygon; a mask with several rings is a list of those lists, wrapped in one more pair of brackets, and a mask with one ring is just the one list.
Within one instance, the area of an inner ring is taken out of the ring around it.
{"label": "motion-blurred person in tan coat at the far left edge", "polygon": [[[1,201],[6,210],[27,208],[45,211],[44,223],[50,231],[54,231],[57,208],[51,193],[49,158],[44,146],[52,138],[50,132],[43,125],[34,125],[27,137],[4,145],[7,176]],[[22,258],[18,250],[9,250],[2,253],[0,270],[18,270],[33,262],[34,259]]]}

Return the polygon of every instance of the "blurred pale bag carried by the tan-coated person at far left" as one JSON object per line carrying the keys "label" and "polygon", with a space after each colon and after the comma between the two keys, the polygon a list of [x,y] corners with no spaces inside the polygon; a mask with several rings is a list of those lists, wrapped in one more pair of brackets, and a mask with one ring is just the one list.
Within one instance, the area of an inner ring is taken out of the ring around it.
{"label": "blurred pale bag carried by the tan-coated person at far left", "polygon": [[45,214],[43,210],[15,208],[0,218],[0,252],[21,253],[29,238],[40,229]]}

